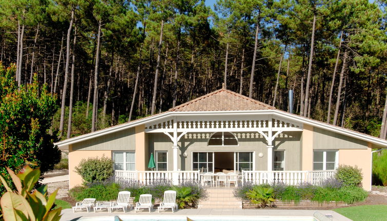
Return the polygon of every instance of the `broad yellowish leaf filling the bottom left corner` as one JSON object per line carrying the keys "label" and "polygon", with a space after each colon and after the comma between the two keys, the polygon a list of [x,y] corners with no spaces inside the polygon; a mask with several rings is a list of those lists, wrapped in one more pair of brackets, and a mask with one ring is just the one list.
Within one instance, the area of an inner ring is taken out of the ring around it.
{"label": "broad yellowish leaf filling the bottom left corner", "polygon": [[[28,204],[28,201],[21,195],[14,192],[6,192],[0,199],[5,221],[25,220],[21,216],[22,212],[29,220],[35,220],[35,215]],[[18,212],[20,211],[20,212]]]}

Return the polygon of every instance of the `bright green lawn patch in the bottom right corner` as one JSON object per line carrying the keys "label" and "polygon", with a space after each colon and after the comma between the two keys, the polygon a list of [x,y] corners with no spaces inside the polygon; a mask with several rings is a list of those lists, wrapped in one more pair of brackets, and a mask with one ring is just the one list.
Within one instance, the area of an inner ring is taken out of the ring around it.
{"label": "bright green lawn patch in the bottom right corner", "polygon": [[386,220],[387,205],[366,205],[334,209],[354,221],[382,221]]}

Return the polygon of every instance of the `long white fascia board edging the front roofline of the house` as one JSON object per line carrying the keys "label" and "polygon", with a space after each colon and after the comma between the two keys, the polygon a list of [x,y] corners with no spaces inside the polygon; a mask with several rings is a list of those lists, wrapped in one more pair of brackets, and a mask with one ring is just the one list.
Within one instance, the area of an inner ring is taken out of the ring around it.
{"label": "long white fascia board edging the front roofline of the house", "polygon": [[311,125],[311,126],[315,126],[315,127],[318,127],[318,128],[322,128],[322,129],[325,129],[325,130],[328,130],[328,131],[332,131],[332,132],[339,133],[339,134],[342,134],[342,135],[350,136],[350,137],[357,138],[357,139],[360,139],[360,140],[364,140],[364,141],[367,141],[367,142],[371,142],[371,143],[374,143],[374,144],[378,144],[378,145],[382,145],[382,146],[387,146],[387,140],[383,140],[383,139],[380,139],[380,138],[377,138],[377,137],[373,137],[373,136],[370,136],[370,135],[366,135],[366,134],[361,134],[361,133],[358,133],[358,132],[355,132],[355,131],[347,130],[347,129],[342,128],[342,127],[338,127],[338,126],[334,126],[334,125],[331,125],[331,124],[323,123],[323,122],[320,122],[320,121],[317,121],[317,120],[312,120],[312,119],[300,117],[298,115],[289,114],[287,112],[283,112],[283,111],[279,111],[279,110],[211,111],[211,112],[208,112],[208,111],[203,111],[203,112],[165,112],[163,114],[154,115],[154,116],[143,118],[143,119],[136,120],[136,121],[133,121],[133,122],[124,123],[124,124],[120,124],[120,125],[117,125],[117,126],[112,126],[112,127],[109,127],[109,128],[106,128],[106,129],[103,129],[103,130],[100,130],[100,131],[92,132],[92,133],[89,133],[89,134],[84,134],[84,135],[81,135],[81,136],[77,136],[77,137],[73,137],[73,138],[70,138],[70,139],[62,140],[60,142],[54,143],[54,145],[57,145],[59,147],[60,146],[66,146],[66,145],[70,145],[70,144],[73,144],[73,143],[77,143],[77,142],[81,142],[81,141],[84,141],[84,140],[92,139],[92,138],[95,138],[95,137],[99,137],[99,136],[111,134],[111,133],[114,133],[114,132],[126,130],[126,129],[131,128],[131,127],[135,127],[135,126],[146,124],[146,123],[149,123],[149,122],[165,119],[165,118],[172,117],[172,116],[176,116],[176,117],[177,116],[182,116],[182,117],[184,117],[184,116],[201,116],[202,117],[203,115],[206,115],[206,116],[243,115],[243,117],[246,117],[248,115],[258,115],[258,116],[259,115],[273,115],[273,116],[279,116],[279,117],[284,117],[285,119],[294,120],[296,122],[308,124],[308,125]]}

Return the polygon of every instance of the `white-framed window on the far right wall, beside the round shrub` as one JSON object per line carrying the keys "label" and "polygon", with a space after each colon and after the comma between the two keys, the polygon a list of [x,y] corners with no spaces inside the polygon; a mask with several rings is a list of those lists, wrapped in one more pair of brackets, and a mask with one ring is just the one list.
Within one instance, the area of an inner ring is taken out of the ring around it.
{"label": "white-framed window on the far right wall, beside the round shrub", "polygon": [[337,157],[337,151],[314,151],[313,170],[335,170]]}

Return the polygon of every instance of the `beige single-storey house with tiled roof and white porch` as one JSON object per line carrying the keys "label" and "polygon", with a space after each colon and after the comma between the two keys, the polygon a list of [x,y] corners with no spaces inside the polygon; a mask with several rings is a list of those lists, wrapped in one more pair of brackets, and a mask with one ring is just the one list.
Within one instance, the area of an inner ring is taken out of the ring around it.
{"label": "beige single-storey house with tiled roof and white porch", "polygon": [[[200,179],[206,172],[240,173],[256,183],[318,183],[339,164],[362,169],[371,190],[372,149],[387,141],[280,111],[220,89],[169,111],[55,143],[69,150],[70,188],[82,159],[111,157],[115,175],[147,180]],[[147,168],[153,153],[156,169]],[[144,181],[145,182],[145,181]]]}

